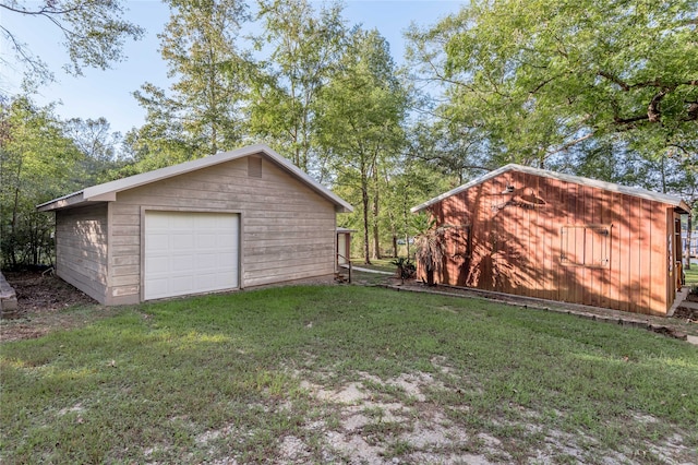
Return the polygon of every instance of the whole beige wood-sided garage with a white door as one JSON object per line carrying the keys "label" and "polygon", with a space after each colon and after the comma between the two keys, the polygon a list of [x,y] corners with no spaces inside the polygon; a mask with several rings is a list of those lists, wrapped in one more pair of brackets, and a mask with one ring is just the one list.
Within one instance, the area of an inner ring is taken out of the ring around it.
{"label": "whole beige wood-sided garage with a white door", "polygon": [[266,145],[51,200],[56,273],[105,305],[332,275],[352,206]]}

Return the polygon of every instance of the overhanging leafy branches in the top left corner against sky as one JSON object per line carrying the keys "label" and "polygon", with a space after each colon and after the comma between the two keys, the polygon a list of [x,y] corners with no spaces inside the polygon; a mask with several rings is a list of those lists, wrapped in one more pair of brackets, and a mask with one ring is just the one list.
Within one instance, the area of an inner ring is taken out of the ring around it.
{"label": "overhanging leafy branches in the top left corner against sky", "polygon": [[[82,75],[84,68],[104,70],[110,63],[121,61],[124,40],[137,40],[143,35],[143,28],[122,19],[125,3],[122,0],[45,0],[36,3],[32,2],[29,7],[27,2],[1,0],[0,11],[46,20],[44,24],[58,28],[70,59],[65,70],[73,75]],[[35,27],[43,26],[37,24]],[[0,24],[0,34],[32,74],[44,81],[51,78],[50,70],[22,43],[17,32]],[[8,64],[5,58],[0,58],[0,62]]]}

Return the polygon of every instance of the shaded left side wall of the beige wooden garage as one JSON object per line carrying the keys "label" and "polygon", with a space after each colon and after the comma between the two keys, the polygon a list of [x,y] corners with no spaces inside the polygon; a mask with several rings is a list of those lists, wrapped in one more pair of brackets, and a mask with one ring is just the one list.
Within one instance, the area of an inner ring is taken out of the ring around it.
{"label": "shaded left side wall of the beige wooden garage", "polygon": [[56,271],[65,282],[105,303],[107,204],[56,212]]}

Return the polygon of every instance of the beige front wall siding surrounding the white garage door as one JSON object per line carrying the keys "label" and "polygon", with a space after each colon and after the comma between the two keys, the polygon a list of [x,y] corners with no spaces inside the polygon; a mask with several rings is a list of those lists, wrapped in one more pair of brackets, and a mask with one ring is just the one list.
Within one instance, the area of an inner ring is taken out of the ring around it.
{"label": "beige front wall siding surrounding the white garage door", "polygon": [[261,178],[241,158],[120,192],[110,207],[113,302],[140,298],[148,208],[240,213],[243,287],[334,272],[334,205],[265,158]]}

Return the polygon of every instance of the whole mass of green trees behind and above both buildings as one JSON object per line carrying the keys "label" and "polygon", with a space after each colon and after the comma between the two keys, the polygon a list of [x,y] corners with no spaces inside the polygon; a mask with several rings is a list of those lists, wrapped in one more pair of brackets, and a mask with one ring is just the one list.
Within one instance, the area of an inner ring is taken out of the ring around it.
{"label": "whole mass of green trees behind and above both buildings", "polygon": [[[252,142],[357,205],[339,223],[360,230],[354,257],[366,262],[397,254],[398,241],[409,250],[410,206],[512,162],[671,192],[698,210],[698,0],[472,0],[413,26],[404,68],[339,2],[165,3],[170,82],[135,92],[141,128],[121,138],[31,96],[0,102],[5,261],[44,247],[35,237],[50,225],[32,216],[35,203]],[[0,0],[0,11],[56,26],[73,74],[122,59],[143,33],[122,0],[32,4]],[[16,32],[0,34],[48,78]]]}

